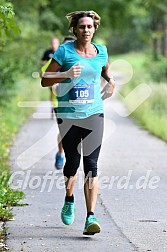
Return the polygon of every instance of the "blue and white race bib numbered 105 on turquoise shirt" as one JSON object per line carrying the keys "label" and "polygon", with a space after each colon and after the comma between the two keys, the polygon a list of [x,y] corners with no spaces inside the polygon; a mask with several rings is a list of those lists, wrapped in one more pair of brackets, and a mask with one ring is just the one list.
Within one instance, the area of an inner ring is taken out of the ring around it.
{"label": "blue and white race bib numbered 105 on turquoise shirt", "polygon": [[94,85],[76,85],[69,92],[71,103],[92,103],[94,101]]}

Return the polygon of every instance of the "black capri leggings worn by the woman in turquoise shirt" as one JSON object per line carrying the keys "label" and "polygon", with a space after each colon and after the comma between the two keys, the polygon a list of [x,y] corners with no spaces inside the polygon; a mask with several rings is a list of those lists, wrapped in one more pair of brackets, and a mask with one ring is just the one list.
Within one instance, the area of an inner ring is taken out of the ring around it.
{"label": "black capri leggings worn by the woman in turquoise shirt", "polygon": [[85,119],[57,118],[57,122],[66,157],[64,176],[70,178],[76,174],[82,150],[85,177],[96,177],[104,115],[95,114]]}

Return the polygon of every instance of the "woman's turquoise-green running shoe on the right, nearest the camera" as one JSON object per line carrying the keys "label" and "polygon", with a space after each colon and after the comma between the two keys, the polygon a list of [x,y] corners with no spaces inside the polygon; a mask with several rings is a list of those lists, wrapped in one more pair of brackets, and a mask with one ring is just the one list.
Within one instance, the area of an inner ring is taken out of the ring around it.
{"label": "woman's turquoise-green running shoe on the right, nearest the camera", "polygon": [[85,222],[84,235],[94,235],[100,233],[100,225],[98,219],[94,215],[90,215]]}

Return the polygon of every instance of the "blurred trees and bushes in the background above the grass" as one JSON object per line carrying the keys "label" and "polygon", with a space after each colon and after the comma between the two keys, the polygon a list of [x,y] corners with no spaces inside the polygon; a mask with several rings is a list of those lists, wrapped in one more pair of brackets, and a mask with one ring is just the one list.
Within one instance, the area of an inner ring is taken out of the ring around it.
{"label": "blurred trees and bushes in the background above the grass", "polygon": [[[75,6],[75,8],[74,8]],[[154,81],[167,79],[167,5],[155,0],[0,0],[0,104],[13,96],[20,74],[39,71],[50,38],[69,33],[65,15],[95,10],[101,26],[94,40],[110,55],[138,51]]]}

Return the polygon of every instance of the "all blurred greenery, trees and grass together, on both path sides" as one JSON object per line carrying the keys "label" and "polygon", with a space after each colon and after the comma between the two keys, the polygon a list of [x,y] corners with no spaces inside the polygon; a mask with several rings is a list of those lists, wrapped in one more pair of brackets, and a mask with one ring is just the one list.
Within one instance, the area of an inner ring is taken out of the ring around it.
{"label": "all blurred greenery, trees and grass together, on both path sides", "polygon": [[[40,59],[50,47],[50,39],[58,37],[62,42],[69,34],[65,15],[75,10],[96,11],[101,26],[94,41],[107,46],[110,61],[121,58],[132,65],[133,78],[123,85],[122,94],[141,82],[152,87],[151,97],[131,116],[167,141],[166,0],[0,0],[0,171],[9,172],[10,146],[32,113],[32,108],[19,108],[17,103],[48,99],[47,90],[32,73],[40,70]],[[1,174],[0,180],[4,178]],[[1,184],[0,191],[5,194],[7,183]],[[2,213],[10,204],[5,206],[1,199],[0,219],[5,219]]]}

